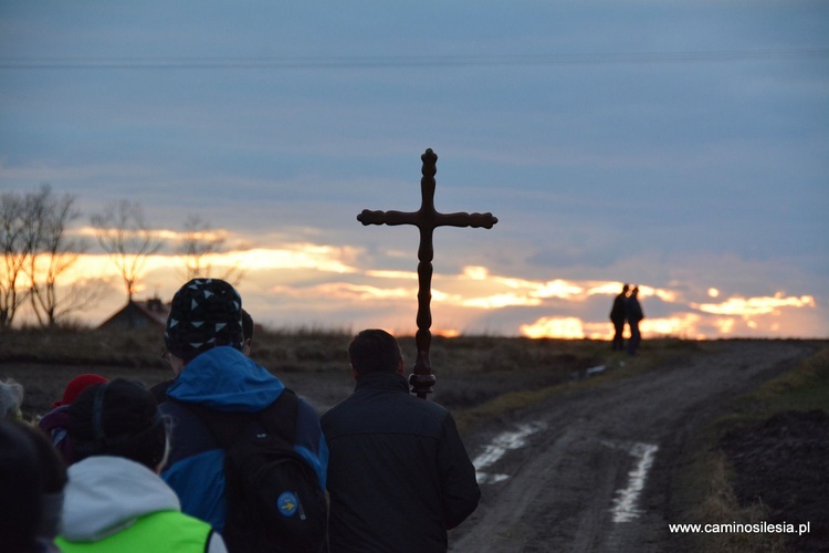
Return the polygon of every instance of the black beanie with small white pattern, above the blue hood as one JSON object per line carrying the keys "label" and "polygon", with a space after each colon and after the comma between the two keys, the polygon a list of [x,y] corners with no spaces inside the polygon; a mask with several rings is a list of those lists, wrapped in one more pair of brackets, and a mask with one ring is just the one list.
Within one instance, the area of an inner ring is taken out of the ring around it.
{"label": "black beanie with small white pattern, above the blue hood", "polygon": [[193,279],[176,292],[164,342],[187,362],[220,345],[242,349],[242,298],[219,279]]}

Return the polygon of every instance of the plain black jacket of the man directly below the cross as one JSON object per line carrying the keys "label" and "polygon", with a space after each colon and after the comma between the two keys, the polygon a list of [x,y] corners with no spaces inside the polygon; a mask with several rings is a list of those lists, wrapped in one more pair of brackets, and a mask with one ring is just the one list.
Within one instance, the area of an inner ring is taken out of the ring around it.
{"label": "plain black jacket of the man directly below the cross", "polygon": [[322,417],[332,553],[447,551],[481,492],[454,419],[391,373],[365,375]]}

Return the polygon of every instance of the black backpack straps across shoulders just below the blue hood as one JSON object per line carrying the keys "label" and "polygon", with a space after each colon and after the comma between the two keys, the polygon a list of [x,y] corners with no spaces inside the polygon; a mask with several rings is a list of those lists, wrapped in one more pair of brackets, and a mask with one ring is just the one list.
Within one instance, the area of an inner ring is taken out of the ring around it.
{"label": "black backpack straps across shoulders just below the blue hood", "polygon": [[271,405],[258,413],[228,413],[204,407],[203,405],[189,404],[175,400],[198,416],[201,422],[213,435],[219,447],[224,450],[238,439],[244,437],[244,429],[251,424],[258,422],[270,434],[282,437],[293,445],[296,439],[296,419],[298,413],[298,399],[294,390],[284,388],[280,397]]}

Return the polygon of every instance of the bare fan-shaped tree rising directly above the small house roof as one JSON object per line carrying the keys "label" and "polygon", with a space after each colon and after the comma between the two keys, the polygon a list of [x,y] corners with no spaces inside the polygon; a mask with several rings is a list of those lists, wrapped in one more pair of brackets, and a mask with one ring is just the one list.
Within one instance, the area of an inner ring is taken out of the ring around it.
{"label": "bare fan-shaped tree rising directly above the small house roof", "polygon": [[90,218],[98,243],[109,254],[127,289],[127,301],[133,294],[147,260],[161,248],[144,220],[144,209],[137,201],[119,200],[109,204],[103,213]]}

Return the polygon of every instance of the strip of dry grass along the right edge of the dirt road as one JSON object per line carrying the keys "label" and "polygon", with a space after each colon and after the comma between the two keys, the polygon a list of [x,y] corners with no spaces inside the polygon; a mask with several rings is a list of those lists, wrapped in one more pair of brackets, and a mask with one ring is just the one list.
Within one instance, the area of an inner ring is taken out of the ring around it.
{"label": "strip of dry grass along the right edge of the dirt road", "polygon": [[[721,437],[738,431],[777,413],[829,413],[829,345],[821,342],[811,356],[793,369],[735,398],[728,414],[713,420],[692,441],[689,465],[680,476],[672,522],[696,524],[759,523],[768,520],[769,508],[757,501],[741,505],[732,481],[734,468],[720,449]],[[786,551],[783,533],[684,534],[693,551]]]}

